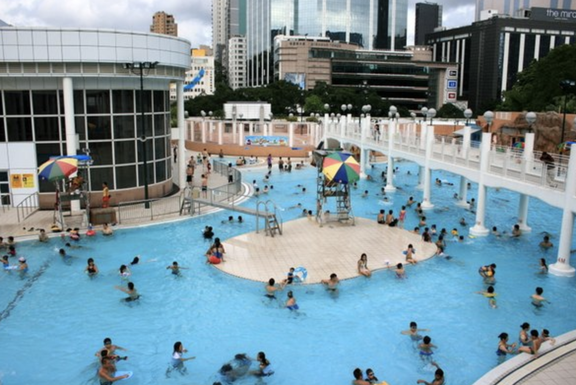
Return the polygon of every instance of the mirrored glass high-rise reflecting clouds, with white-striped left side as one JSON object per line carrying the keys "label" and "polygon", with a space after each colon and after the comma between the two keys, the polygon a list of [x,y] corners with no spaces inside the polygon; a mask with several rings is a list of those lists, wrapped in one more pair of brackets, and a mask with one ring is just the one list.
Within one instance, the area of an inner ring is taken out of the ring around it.
{"label": "mirrored glass high-rise reflecting clouds, with white-striped left side", "polygon": [[248,0],[248,86],[274,81],[274,37],[320,36],[367,50],[406,46],[408,0]]}

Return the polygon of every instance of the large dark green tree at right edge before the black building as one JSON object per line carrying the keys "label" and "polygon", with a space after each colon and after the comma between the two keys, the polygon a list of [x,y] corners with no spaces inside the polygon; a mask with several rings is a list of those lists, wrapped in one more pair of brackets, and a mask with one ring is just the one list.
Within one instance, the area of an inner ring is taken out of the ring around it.
{"label": "large dark green tree at right edge before the black building", "polygon": [[[564,45],[540,61],[532,61],[518,74],[516,84],[504,93],[502,109],[507,111],[546,111],[563,108],[562,80],[576,80],[576,45]],[[574,93],[574,90],[572,92]],[[560,96],[560,98],[559,98]],[[552,106],[551,106],[551,103]],[[576,112],[576,110],[568,110]]]}

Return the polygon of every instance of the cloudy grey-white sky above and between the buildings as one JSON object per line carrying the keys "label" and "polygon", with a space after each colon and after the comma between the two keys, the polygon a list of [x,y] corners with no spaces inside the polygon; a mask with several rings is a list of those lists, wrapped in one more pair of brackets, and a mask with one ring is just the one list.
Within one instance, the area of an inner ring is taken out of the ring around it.
{"label": "cloudy grey-white sky above and between the buildings", "polygon": [[[366,0],[367,1],[367,0]],[[409,0],[408,43],[414,40],[414,4]],[[438,0],[445,27],[474,20],[475,0]],[[211,45],[211,0],[4,0],[0,20],[21,27],[84,27],[149,31],[154,12],[173,14],[179,36],[192,47]]]}

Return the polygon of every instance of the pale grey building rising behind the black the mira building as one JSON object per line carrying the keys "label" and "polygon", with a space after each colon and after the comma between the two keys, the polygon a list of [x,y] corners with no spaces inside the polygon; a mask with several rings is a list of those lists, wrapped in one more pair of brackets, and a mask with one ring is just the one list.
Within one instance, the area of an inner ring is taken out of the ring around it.
{"label": "pale grey building rising behind the black the mira building", "polygon": [[[495,13],[526,16],[525,11],[532,7],[576,9],[576,0],[476,0],[476,21],[482,20],[483,11],[486,11],[486,17]],[[487,12],[488,10],[492,12]]]}

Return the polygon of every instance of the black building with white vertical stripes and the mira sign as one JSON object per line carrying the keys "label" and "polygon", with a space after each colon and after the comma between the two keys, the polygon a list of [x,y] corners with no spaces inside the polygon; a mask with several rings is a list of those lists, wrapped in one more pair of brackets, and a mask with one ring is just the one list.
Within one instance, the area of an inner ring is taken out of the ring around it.
{"label": "black building with white vertical stripes and the mira sign", "polygon": [[530,18],[492,17],[467,27],[427,35],[433,61],[457,62],[453,92],[472,110],[500,100],[531,61],[562,44],[576,44],[576,21],[546,17],[533,8]]}

